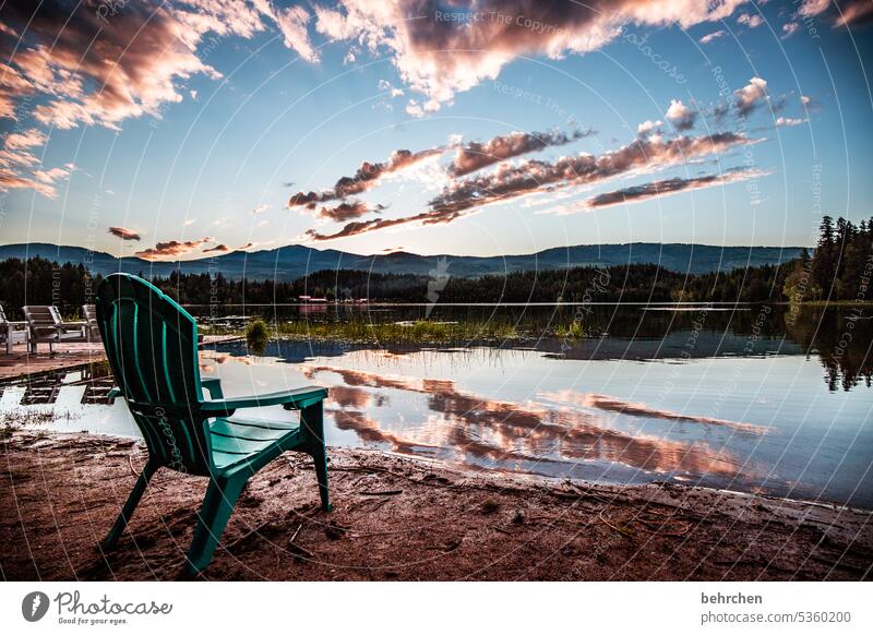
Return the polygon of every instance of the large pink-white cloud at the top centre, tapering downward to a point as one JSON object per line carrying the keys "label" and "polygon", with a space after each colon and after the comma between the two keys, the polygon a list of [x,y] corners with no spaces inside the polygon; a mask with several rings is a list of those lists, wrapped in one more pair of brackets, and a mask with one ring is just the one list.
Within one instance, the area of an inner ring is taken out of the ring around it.
{"label": "large pink-white cloud at the top centre, tapering downward to a point", "polygon": [[[387,51],[404,82],[436,108],[456,93],[497,79],[521,56],[585,53],[615,39],[629,23],[689,28],[723,20],[742,4],[745,0],[480,0],[470,16],[453,3],[342,0],[336,8],[314,11],[319,33]],[[427,109],[419,103],[409,108],[416,115]]]}

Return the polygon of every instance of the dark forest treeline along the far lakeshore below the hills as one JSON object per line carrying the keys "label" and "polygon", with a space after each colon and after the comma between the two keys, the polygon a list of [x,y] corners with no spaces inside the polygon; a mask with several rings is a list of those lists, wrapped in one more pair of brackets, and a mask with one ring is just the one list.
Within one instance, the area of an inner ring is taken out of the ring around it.
{"label": "dark forest treeline along the far lakeshore below the hills", "polygon": [[[300,296],[393,302],[773,302],[869,300],[873,219],[858,226],[825,216],[816,248],[782,265],[683,274],[655,264],[515,272],[479,278],[321,271],[290,283],[177,274],[152,281],[183,304],[284,303]],[[0,302],[20,316],[24,304],[56,304],[71,315],[93,302],[101,280],[81,264],[34,257],[0,261]]]}

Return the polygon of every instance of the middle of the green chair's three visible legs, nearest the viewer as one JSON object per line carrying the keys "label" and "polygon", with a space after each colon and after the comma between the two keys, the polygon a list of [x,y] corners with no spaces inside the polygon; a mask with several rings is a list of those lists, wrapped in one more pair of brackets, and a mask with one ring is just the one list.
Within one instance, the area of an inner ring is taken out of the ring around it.
{"label": "middle of the green chair's three visible legs, nearest the viewer", "polygon": [[206,498],[203,499],[200,508],[194,538],[188,551],[188,562],[183,571],[186,577],[196,575],[210,564],[246,480],[239,476],[231,479],[214,477],[210,480]]}

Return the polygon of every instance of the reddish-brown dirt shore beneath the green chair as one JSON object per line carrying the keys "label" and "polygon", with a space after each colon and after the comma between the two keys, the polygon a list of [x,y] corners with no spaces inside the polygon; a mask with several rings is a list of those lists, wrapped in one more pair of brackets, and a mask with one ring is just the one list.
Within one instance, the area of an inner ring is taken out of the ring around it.
{"label": "reddish-brown dirt shore beneath the green chair", "polygon": [[[130,440],[7,431],[8,580],[175,579],[205,479],[162,470],[99,541],[145,460]],[[332,513],[288,453],[243,492],[204,579],[869,579],[869,512],[657,483],[590,486],[330,448]]]}

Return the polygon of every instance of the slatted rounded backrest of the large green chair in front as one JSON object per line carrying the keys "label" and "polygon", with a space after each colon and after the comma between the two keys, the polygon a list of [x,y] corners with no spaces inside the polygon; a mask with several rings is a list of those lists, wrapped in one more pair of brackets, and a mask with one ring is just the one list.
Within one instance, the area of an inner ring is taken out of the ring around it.
{"label": "slatted rounded backrest of the large green chair in front", "polygon": [[194,319],[130,274],[108,276],[97,289],[96,308],[109,364],[152,458],[179,471],[208,474]]}

